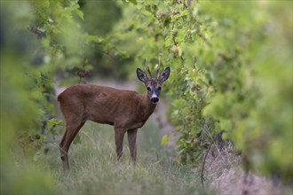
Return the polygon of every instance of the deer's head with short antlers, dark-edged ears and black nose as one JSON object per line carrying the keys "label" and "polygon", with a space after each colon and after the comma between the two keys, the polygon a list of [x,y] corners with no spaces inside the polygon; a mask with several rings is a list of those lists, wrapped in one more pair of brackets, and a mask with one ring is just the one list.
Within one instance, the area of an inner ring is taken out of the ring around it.
{"label": "deer's head with short antlers, dark-edged ears and black nose", "polygon": [[137,75],[138,75],[139,81],[144,82],[145,86],[147,87],[147,97],[150,99],[150,101],[153,104],[156,104],[159,102],[159,97],[162,90],[162,82],[165,82],[169,77],[170,67],[166,67],[161,72],[161,74],[159,74],[159,71],[160,71],[160,58],[159,58],[159,66],[156,70],[156,74],[154,77],[149,71],[149,68],[147,66],[147,60],[146,60],[146,69],[149,74],[149,77],[140,68],[137,69]]}

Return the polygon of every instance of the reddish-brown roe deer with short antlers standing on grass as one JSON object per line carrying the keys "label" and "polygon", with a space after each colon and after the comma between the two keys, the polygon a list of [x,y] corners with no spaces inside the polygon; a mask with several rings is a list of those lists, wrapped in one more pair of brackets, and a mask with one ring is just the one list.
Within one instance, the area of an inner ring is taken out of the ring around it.
{"label": "reddish-brown roe deer with short antlers standing on grass", "polygon": [[159,101],[162,82],[165,82],[170,74],[170,67],[166,67],[159,75],[159,66],[155,77],[137,68],[139,81],[144,82],[147,94],[139,94],[131,90],[116,90],[99,85],[77,84],[68,87],[58,97],[59,107],[66,121],[66,131],[59,144],[60,156],[64,170],[69,170],[68,149],[79,129],[85,121],[95,121],[113,125],[115,129],[115,146],[117,160],[123,154],[123,137],[128,135],[131,160],[135,163],[137,156],[136,137],[148,117],[154,112]]}

